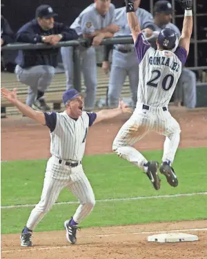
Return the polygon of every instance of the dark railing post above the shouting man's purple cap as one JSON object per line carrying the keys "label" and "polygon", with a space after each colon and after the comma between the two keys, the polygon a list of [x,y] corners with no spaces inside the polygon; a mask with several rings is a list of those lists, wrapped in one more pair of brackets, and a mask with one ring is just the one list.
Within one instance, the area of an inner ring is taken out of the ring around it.
{"label": "dark railing post above the shouting man's purple cap", "polygon": [[73,85],[74,88],[81,92],[81,63],[80,63],[80,51],[78,46],[73,47]]}

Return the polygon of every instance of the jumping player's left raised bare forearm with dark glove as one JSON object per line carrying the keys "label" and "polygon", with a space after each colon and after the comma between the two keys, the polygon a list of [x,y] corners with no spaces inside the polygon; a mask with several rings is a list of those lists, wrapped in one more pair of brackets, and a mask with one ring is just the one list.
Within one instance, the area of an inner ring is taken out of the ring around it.
{"label": "jumping player's left raised bare forearm with dark glove", "polygon": [[126,3],[128,25],[132,32],[134,43],[136,43],[137,37],[141,33],[141,28],[140,28],[138,18],[135,14],[134,0],[125,0],[125,3]]}

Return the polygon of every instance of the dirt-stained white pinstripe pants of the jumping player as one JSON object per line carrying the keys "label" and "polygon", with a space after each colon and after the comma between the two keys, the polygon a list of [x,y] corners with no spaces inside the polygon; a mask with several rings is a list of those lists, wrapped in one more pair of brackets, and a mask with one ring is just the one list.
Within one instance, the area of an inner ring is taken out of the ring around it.
{"label": "dirt-stained white pinstripe pants of the jumping player", "polygon": [[172,163],[179,145],[181,132],[179,124],[168,110],[154,107],[144,110],[142,106],[142,103],[137,104],[135,112],[119,130],[112,145],[113,151],[144,169],[143,166],[148,160],[132,145],[144,138],[148,132],[157,132],[166,136],[162,160],[170,160]]}

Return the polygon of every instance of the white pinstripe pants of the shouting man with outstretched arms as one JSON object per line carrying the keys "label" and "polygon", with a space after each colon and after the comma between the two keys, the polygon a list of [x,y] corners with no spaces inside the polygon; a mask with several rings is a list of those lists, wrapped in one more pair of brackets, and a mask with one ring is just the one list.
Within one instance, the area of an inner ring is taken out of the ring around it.
{"label": "white pinstripe pants of the shouting man with outstretched arms", "polygon": [[30,214],[26,225],[28,229],[33,230],[37,226],[43,216],[52,208],[64,187],[70,189],[80,202],[73,216],[75,222],[80,223],[95,206],[95,195],[86,174],[83,172],[82,165],[69,167],[63,163],[60,165],[58,160],[55,156],[48,160],[41,200]]}

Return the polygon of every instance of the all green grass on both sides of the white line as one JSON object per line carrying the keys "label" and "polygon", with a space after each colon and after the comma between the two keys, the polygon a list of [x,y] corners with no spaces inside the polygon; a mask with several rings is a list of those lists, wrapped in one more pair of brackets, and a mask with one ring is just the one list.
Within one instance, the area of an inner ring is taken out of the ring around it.
{"label": "all green grass on both sides of the white line", "polygon": [[[144,152],[150,160],[161,160],[161,151]],[[135,165],[114,154],[85,156],[83,168],[95,191],[96,199],[155,196],[206,191],[207,148],[179,149],[173,167],[179,186],[172,188],[161,176],[161,189],[155,191],[148,178]],[[46,160],[1,163],[1,206],[35,204],[43,187]],[[150,221],[184,220],[206,217],[206,196],[128,200],[97,203],[83,227],[135,224]],[[77,200],[64,189],[57,201]],[[55,205],[37,231],[62,229],[75,205]],[[15,233],[23,227],[32,207],[1,210],[1,233]]]}

